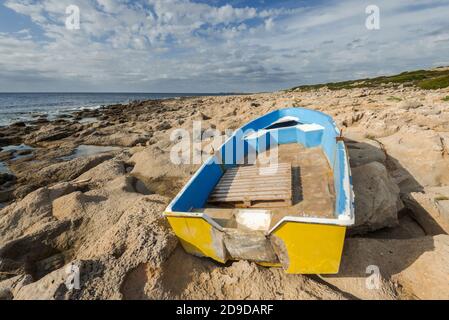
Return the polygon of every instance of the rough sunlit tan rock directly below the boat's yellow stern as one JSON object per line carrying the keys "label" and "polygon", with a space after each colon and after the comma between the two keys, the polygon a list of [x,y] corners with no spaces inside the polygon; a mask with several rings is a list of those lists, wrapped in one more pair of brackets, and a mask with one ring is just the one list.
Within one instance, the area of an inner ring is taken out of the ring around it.
{"label": "rough sunlit tan rock directly below the boat's yellow stern", "polygon": [[222,267],[186,254],[181,248],[160,268],[139,265],[125,278],[122,292],[126,299],[346,298],[314,279],[287,275],[280,268],[263,268],[248,261]]}

